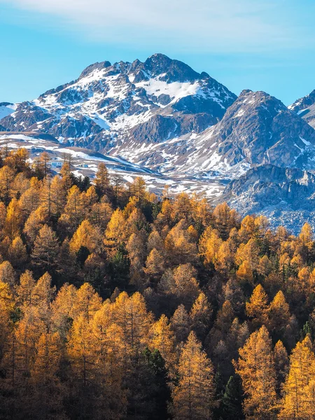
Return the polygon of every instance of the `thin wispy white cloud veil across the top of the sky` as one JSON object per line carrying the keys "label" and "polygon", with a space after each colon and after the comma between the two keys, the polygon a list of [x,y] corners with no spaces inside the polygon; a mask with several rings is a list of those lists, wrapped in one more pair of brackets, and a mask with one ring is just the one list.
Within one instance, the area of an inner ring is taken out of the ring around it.
{"label": "thin wispy white cloud veil across the top of the sky", "polygon": [[[109,43],[204,52],[281,50],[297,43],[283,0],[0,0]],[[56,19],[57,17],[57,19]]]}

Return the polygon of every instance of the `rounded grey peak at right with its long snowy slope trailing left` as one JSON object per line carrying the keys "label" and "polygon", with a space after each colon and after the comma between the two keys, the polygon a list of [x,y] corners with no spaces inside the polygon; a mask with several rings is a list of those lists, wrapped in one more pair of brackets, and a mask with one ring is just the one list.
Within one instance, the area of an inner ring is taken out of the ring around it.
{"label": "rounded grey peak at right with its long snowy slope trailing left", "polygon": [[315,131],[279,99],[244,90],[221,121],[203,132],[125,153],[132,162],[160,172],[235,178],[262,163],[312,169]]}

